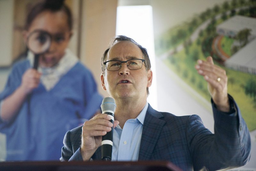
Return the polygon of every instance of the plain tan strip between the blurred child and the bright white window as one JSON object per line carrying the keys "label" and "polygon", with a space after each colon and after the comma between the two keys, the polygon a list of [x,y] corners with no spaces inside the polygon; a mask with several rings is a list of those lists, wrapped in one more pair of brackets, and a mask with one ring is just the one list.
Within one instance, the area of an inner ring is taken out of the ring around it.
{"label": "plain tan strip between the blurred child and the bright white window", "polygon": [[99,92],[107,97],[101,87],[101,56],[116,34],[117,0],[83,0],[81,28],[81,61],[92,71]]}

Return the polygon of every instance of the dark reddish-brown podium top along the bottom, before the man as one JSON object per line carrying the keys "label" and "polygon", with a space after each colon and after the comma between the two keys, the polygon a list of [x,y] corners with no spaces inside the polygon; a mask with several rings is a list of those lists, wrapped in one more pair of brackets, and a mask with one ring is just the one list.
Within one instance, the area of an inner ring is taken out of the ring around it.
{"label": "dark reddish-brown podium top along the bottom, before the man", "polygon": [[168,161],[0,162],[1,171],[181,171]]}

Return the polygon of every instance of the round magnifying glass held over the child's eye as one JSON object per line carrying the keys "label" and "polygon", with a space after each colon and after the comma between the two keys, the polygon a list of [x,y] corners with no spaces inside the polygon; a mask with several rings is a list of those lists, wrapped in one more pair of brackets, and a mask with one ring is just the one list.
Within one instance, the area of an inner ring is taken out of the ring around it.
{"label": "round magnifying glass held over the child's eye", "polygon": [[45,53],[51,45],[51,35],[43,30],[35,30],[28,35],[27,46],[35,55],[33,68],[37,70],[39,56]]}

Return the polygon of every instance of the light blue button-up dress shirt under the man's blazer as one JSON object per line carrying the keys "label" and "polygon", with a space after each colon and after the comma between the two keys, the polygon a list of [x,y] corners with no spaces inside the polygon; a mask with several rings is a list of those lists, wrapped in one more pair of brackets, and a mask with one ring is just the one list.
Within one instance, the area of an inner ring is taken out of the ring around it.
{"label": "light blue button-up dress shirt under the man's blazer", "polygon": [[136,119],[128,119],[124,128],[119,125],[113,131],[112,161],[137,161],[143,123],[148,109],[148,102]]}

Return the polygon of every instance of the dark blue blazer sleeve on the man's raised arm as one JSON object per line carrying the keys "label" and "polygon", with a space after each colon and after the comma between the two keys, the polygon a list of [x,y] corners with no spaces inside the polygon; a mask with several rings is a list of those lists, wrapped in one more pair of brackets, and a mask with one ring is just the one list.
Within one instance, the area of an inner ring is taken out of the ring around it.
{"label": "dark blue blazer sleeve on the man's raised arm", "polygon": [[214,134],[205,129],[197,115],[191,115],[186,132],[194,169],[220,170],[244,166],[251,156],[250,132],[231,96],[235,113],[226,114],[212,104]]}

